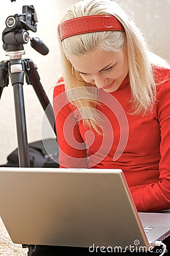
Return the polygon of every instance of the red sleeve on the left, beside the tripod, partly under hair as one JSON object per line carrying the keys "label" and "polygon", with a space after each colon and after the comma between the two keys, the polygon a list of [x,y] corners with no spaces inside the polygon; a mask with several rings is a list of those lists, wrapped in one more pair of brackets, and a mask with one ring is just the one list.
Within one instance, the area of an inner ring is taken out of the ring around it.
{"label": "red sleeve on the left, beside the tripod, partly under hair", "polygon": [[78,120],[74,115],[73,107],[68,102],[62,81],[59,80],[60,85],[57,85],[53,91],[60,168],[88,168],[86,145],[79,132]]}

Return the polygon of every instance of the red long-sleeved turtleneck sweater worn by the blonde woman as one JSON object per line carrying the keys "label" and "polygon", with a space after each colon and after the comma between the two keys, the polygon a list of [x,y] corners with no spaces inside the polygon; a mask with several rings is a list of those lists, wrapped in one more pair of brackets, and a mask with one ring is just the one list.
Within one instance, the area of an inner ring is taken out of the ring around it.
{"label": "red long-sleeved turtleneck sweater worn by the blonde woman", "polygon": [[[156,69],[156,74],[158,80],[170,79],[168,69]],[[102,135],[78,119],[80,115],[67,102],[64,84],[55,87],[60,167],[122,169],[139,212],[169,209],[170,80],[157,85],[154,112],[145,116],[130,114],[128,76],[115,92],[98,91]]]}

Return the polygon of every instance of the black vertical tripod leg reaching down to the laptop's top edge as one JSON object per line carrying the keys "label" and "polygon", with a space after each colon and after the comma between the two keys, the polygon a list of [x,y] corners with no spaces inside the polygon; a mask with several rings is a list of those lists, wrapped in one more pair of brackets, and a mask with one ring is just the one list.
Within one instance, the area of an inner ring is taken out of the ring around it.
{"label": "black vertical tripod leg reaching down to the laptop's top edge", "polygon": [[30,167],[30,158],[28,154],[26,117],[24,110],[23,84],[14,84],[14,102],[16,130],[18,138],[18,156],[20,167]]}

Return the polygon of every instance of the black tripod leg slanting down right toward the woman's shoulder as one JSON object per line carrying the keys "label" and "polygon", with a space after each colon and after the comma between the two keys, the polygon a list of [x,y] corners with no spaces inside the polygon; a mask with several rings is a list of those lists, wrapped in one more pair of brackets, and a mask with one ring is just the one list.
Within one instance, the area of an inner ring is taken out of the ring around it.
{"label": "black tripod leg slanting down right toward the woman's shoulder", "polygon": [[47,115],[48,121],[51,124],[52,129],[56,134],[55,116],[53,113],[53,108],[52,108],[51,103],[48,100],[47,94],[45,93],[45,90],[43,89],[43,86],[40,82],[39,74],[36,71],[35,65],[32,62],[32,60],[27,59],[24,61],[25,61],[25,72],[27,75],[26,76],[27,84],[31,84],[33,86],[35,93],[38,96],[38,99],[40,101],[40,104],[42,105],[42,107],[45,111],[45,114]]}

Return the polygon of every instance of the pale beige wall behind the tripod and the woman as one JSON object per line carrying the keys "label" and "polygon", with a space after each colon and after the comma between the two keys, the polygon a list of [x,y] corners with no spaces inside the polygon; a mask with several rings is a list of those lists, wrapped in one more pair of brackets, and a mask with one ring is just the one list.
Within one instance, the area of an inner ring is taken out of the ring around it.
{"label": "pale beige wall behind the tripod and the woman", "polygon": [[[170,60],[170,0],[116,0],[135,17],[151,48]],[[38,31],[29,31],[30,36],[39,37],[47,44],[49,53],[46,56],[40,55],[30,46],[30,42],[24,46],[26,54],[24,58],[30,58],[38,66],[38,72],[42,85],[49,100],[52,100],[52,87],[60,77],[60,54],[57,45],[56,27],[65,11],[76,0],[1,0],[0,8],[0,31],[5,29],[7,16],[15,13],[22,13],[23,5],[34,5],[38,16]],[[0,42],[0,61],[9,59]],[[35,95],[31,85],[26,83],[23,86],[24,101],[26,108],[28,142],[42,138],[41,124],[43,109]],[[17,147],[15,112],[13,100],[13,86],[9,84],[3,89],[0,101],[0,164],[6,163],[7,155]]]}

